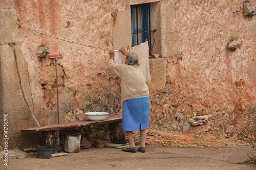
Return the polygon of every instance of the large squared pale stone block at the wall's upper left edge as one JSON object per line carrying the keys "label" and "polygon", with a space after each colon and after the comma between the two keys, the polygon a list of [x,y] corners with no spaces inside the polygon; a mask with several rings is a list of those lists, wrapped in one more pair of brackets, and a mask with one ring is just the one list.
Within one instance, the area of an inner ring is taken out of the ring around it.
{"label": "large squared pale stone block at the wall's upper left edge", "polygon": [[17,34],[17,17],[14,9],[3,9],[0,10],[1,20],[0,27],[0,45],[1,44],[10,44],[16,42]]}

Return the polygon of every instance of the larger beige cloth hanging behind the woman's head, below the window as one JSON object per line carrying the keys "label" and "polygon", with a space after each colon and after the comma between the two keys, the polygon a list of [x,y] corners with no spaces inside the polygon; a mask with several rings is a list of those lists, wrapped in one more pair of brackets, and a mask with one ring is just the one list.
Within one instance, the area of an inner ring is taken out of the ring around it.
{"label": "larger beige cloth hanging behind the woman's head, below the window", "polygon": [[147,82],[151,81],[150,64],[148,61],[148,41],[137,46],[130,47],[131,52],[135,52],[139,57],[139,64],[143,68],[143,74]]}

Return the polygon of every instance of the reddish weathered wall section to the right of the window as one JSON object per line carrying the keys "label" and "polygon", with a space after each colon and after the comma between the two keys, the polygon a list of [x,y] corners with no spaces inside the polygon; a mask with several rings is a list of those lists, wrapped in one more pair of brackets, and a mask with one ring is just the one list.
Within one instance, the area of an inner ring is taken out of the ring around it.
{"label": "reddish weathered wall section to the right of the window", "polygon": [[[167,81],[152,94],[152,126],[232,135],[245,113],[255,114],[255,16],[243,14],[243,1],[164,1],[161,7],[174,12],[161,12]],[[239,42],[237,50],[227,49],[230,39]]]}

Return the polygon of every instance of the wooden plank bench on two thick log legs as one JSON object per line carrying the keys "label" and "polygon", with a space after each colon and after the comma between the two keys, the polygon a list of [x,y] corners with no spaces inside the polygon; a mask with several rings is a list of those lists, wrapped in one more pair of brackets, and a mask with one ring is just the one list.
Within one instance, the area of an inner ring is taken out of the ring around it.
{"label": "wooden plank bench on two thick log legs", "polygon": [[59,152],[60,151],[59,130],[75,128],[75,127],[91,126],[91,125],[109,124],[110,141],[116,144],[125,144],[126,133],[121,128],[121,122],[122,122],[122,114],[116,113],[116,114],[109,114],[105,120],[99,121],[99,122],[91,121],[89,119],[84,119],[84,120],[78,120],[74,122],[43,126],[40,128],[22,129],[20,131],[24,133],[25,132],[41,132],[42,137],[45,138],[46,145],[48,147],[52,147],[54,152]]}

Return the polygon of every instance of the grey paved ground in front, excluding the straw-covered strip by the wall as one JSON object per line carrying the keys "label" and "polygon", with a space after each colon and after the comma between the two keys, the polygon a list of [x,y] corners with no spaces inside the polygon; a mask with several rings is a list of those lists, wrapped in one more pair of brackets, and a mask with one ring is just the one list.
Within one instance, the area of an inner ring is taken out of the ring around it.
{"label": "grey paved ground in front, excluding the straw-covered strip by the wall", "polygon": [[[1,159],[0,169],[256,169],[254,164],[236,164],[255,154],[250,147],[221,149],[146,146],[146,153],[125,153],[113,148],[90,148],[51,159],[29,156]],[[255,154],[256,155],[256,154]]]}

